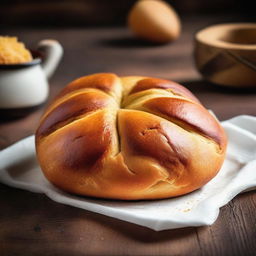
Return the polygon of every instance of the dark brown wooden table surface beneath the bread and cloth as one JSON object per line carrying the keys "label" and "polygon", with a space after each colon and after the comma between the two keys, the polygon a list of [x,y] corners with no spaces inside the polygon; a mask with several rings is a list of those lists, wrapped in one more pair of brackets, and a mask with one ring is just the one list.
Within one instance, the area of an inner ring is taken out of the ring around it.
{"label": "dark brown wooden table surface beneath the bread and cloth", "polygon": [[[134,40],[125,28],[4,29],[30,47],[55,38],[65,55],[50,80],[49,99],[69,81],[96,72],[146,75],[181,82],[220,120],[256,115],[255,91],[223,89],[202,80],[193,64],[193,33],[213,18],[188,19],[173,44]],[[0,149],[34,133],[45,105],[0,123]],[[0,185],[0,255],[256,255],[256,193],[237,196],[209,227],[155,232],[61,205],[45,195]]]}

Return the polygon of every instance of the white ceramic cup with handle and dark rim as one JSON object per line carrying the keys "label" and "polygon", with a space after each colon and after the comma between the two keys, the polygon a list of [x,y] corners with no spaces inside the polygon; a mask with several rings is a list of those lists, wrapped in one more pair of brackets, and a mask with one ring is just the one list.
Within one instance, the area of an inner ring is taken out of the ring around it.
{"label": "white ceramic cup with handle and dark rim", "polygon": [[0,65],[0,109],[34,107],[47,99],[48,78],[59,64],[63,48],[55,40],[43,40],[37,51],[42,58]]}

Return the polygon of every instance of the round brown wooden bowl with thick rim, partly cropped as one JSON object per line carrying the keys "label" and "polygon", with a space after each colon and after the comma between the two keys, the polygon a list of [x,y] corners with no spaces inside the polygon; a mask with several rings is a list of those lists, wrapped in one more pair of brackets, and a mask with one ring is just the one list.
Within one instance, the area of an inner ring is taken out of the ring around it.
{"label": "round brown wooden bowl with thick rim, partly cropped", "polygon": [[197,32],[194,56],[206,80],[256,87],[256,23],[220,24]]}

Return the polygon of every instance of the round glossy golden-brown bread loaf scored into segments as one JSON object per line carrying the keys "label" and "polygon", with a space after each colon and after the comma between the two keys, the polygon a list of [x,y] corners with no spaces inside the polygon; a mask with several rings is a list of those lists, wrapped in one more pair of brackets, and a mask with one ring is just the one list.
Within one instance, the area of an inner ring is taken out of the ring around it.
{"label": "round glossy golden-brown bread loaf scored into segments", "polygon": [[36,132],[37,157],[52,184],[123,200],[202,187],[221,168],[226,143],[219,122],[183,86],[110,73],[71,82]]}

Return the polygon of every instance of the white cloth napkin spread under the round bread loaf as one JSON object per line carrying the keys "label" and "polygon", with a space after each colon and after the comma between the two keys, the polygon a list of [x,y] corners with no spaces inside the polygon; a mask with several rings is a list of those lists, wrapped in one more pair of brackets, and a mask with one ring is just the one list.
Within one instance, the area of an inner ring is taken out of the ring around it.
{"label": "white cloth napkin spread under the round bread loaf", "polygon": [[227,157],[218,175],[185,196],[156,201],[111,201],[70,195],[51,185],[38,166],[34,136],[0,152],[0,182],[52,200],[136,223],[153,230],[211,225],[219,208],[238,193],[256,188],[256,117],[222,122],[228,138]]}

